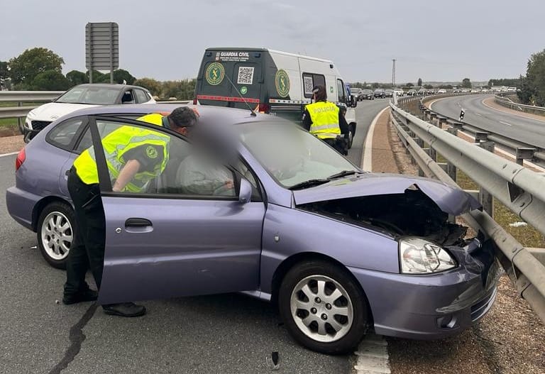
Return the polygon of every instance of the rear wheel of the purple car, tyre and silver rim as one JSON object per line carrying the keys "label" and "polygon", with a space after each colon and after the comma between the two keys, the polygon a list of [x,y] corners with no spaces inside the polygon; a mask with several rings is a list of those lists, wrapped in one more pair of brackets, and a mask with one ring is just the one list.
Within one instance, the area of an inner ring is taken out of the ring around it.
{"label": "rear wheel of the purple car, tyre and silver rim", "polygon": [[52,202],[40,213],[36,230],[38,248],[53,268],[66,268],[75,222],[74,210],[65,202]]}

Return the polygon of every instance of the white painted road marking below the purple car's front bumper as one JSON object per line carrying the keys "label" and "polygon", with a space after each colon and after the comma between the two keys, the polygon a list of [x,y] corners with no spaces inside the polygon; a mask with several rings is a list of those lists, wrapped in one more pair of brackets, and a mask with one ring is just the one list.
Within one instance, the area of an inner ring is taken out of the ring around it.
{"label": "white painted road marking below the purple car's front bumper", "polygon": [[356,374],[390,374],[388,343],[381,335],[367,334],[354,352],[358,359]]}

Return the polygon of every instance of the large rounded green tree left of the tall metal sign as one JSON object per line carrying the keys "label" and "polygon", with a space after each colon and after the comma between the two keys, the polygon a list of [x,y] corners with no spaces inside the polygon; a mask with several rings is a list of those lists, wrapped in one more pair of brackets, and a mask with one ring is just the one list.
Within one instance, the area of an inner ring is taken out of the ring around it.
{"label": "large rounded green tree left of the tall metal sign", "polygon": [[10,77],[13,83],[30,87],[34,78],[48,70],[62,73],[65,60],[47,48],[32,48],[9,60]]}

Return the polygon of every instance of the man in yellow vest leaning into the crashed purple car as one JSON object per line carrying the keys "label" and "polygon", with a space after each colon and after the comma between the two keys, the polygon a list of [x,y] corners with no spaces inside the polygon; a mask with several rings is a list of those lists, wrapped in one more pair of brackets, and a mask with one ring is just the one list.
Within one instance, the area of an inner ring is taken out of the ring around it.
{"label": "man in yellow vest leaning into the crashed purple car", "polygon": [[[187,107],[177,108],[165,118],[173,131],[184,135],[187,126],[197,122],[197,115]],[[169,140],[163,133],[135,126],[121,126],[105,136],[102,147],[110,175],[115,180],[112,190],[143,191],[148,182],[165,169]],[[90,269],[100,289],[104,268],[106,224],[93,147],[84,150],[74,161],[68,175],[68,192],[74,203],[77,230],[67,258],[62,302],[75,304],[98,298],[98,292],[85,282],[85,274]],[[123,317],[145,314],[145,307],[132,302],[102,307],[106,314]]]}

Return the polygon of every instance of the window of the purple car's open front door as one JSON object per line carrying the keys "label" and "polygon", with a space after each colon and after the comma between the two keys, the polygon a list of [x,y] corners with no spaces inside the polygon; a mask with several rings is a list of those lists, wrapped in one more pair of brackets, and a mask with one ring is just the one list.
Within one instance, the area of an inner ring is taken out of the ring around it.
{"label": "window of the purple car's open front door", "polygon": [[[103,119],[97,119],[97,128],[114,192],[236,197],[233,171],[177,136]],[[127,163],[138,165],[128,178]]]}

